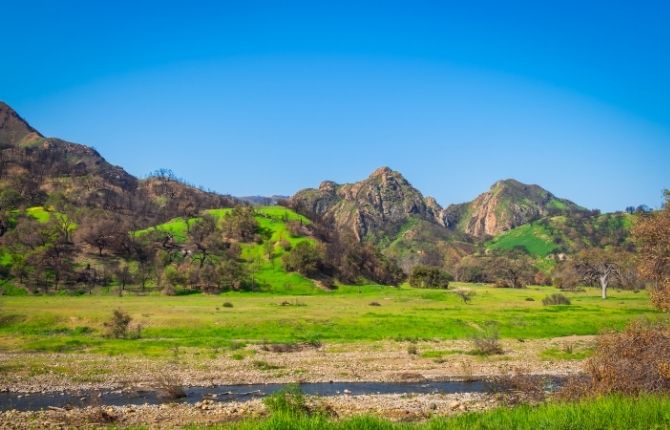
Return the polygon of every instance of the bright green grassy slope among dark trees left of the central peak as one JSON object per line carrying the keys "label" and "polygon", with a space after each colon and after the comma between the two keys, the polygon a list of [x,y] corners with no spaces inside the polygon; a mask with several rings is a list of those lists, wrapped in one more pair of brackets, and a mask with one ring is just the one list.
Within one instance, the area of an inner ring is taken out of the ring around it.
{"label": "bright green grassy slope among dark trees left of the central peak", "polygon": [[[217,219],[230,213],[230,208],[210,209],[205,213]],[[261,229],[263,243],[242,244],[242,257],[247,261],[248,268],[254,273],[256,282],[265,290],[289,294],[306,294],[315,290],[314,283],[298,273],[287,273],[282,268],[281,257],[284,250],[277,244],[279,240],[286,240],[295,246],[299,242],[312,240],[306,237],[293,237],[288,231],[286,221],[302,221],[309,224],[311,221],[291,209],[282,206],[267,206],[256,208],[256,221]],[[142,235],[152,230],[171,233],[175,241],[183,243],[187,238],[187,223],[193,225],[198,218],[175,218],[166,223],[135,232]],[[275,243],[273,256],[268,259],[265,252],[265,243]]]}

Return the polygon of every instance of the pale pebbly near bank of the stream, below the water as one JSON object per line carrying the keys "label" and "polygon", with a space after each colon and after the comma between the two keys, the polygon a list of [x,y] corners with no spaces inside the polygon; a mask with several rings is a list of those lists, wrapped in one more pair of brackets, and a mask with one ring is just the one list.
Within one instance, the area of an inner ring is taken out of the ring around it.
{"label": "pale pebbly near bank of the stream, below the water", "polygon": [[[437,415],[481,411],[495,407],[498,400],[494,395],[479,393],[339,395],[308,397],[308,404],[339,418],[375,414],[396,421],[413,421]],[[260,399],[225,403],[203,400],[192,405],[171,403],[141,406],[89,406],[74,409],[51,408],[37,412],[10,410],[0,412],[0,428],[10,430],[146,426],[152,429],[164,429],[186,425],[226,423],[263,417],[267,414],[268,411]]]}

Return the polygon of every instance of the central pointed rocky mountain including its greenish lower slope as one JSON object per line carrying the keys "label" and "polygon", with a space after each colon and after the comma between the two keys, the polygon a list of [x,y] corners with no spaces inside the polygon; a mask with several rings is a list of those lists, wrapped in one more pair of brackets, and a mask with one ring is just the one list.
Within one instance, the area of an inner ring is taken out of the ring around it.
{"label": "central pointed rocky mountain including its greenish lower slope", "polygon": [[296,193],[289,206],[340,234],[376,244],[406,272],[419,263],[451,266],[474,250],[463,234],[445,228],[434,198],[388,167],[352,184],[324,181]]}

